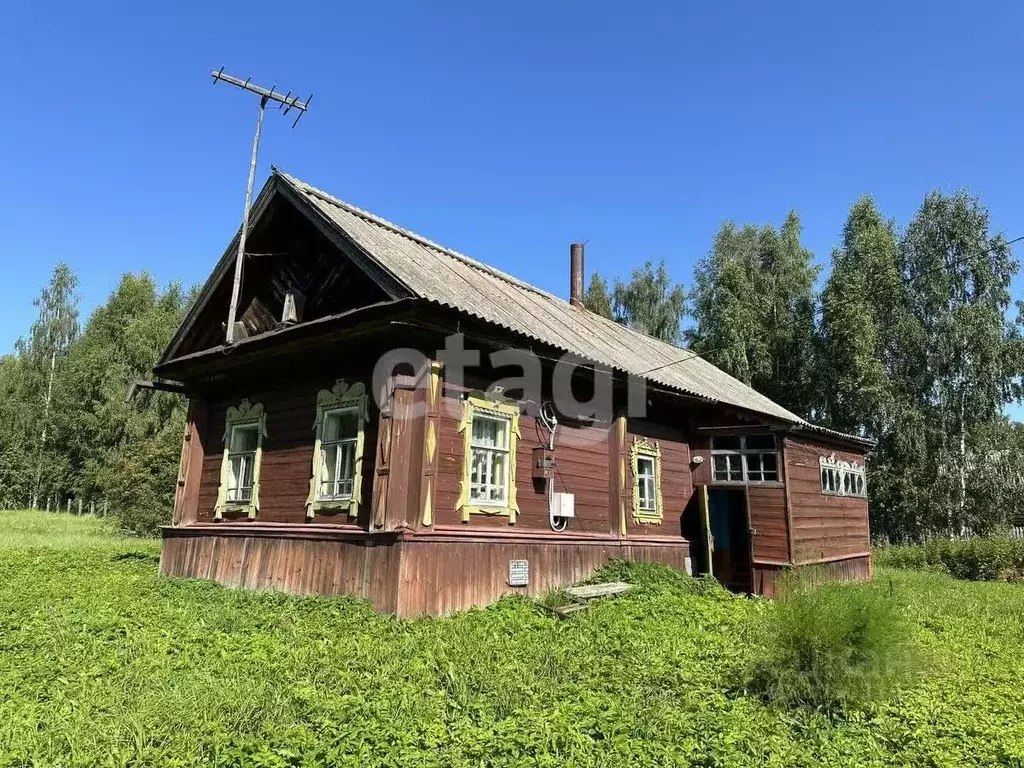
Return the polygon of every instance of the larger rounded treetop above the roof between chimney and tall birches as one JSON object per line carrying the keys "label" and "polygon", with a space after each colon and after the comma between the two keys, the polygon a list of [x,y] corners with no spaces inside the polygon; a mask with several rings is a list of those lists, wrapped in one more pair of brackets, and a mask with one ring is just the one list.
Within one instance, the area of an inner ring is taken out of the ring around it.
{"label": "larger rounded treetop above the roof between chimney and tall birches", "polygon": [[672,282],[662,261],[650,261],[633,270],[629,283],[615,281],[612,314],[616,323],[655,339],[678,344],[680,324],[686,311],[686,294]]}

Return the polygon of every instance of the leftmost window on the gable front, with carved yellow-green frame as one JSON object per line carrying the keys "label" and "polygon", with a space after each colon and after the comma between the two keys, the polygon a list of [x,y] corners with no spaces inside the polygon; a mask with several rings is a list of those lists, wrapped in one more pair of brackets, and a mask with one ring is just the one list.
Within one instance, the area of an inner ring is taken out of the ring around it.
{"label": "leftmost window on the gable front, with carved yellow-green frame", "polygon": [[245,513],[249,518],[259,512],[259,469],[265,436],[263,406],[242,400],[227,409],[215,520],[222,519],[224,512]]}

